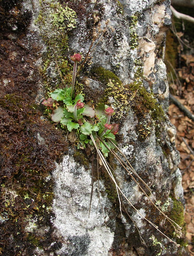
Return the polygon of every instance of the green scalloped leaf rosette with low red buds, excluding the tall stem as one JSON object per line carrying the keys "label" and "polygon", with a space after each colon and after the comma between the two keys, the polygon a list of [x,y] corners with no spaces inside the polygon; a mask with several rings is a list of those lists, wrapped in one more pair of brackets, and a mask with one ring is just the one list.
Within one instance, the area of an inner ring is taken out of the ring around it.
{"label": "green scalloped leaf rosette with low red buds, excluding the tall stem", "polygon": [[75,131],[78,149],[84,149],[88,143],[94,145],[90,138],[92,134],[97,146],[107,157],[110,149],[114,149],[117,145],[115,134],[119,130],[118,124],[109,124],[110,117],[114,115],[113,108],[98,104],[93,109],[84,103],[82,94],[77,94],[75,99],[72,99],[70,94],[71,87],[56,89],[50,92],[50,98],[47,101],[43,100],[42,104],[48,108],[52,102],[59,102],[60,106],[54,109],[51,120],[61,123],[69,132]]}

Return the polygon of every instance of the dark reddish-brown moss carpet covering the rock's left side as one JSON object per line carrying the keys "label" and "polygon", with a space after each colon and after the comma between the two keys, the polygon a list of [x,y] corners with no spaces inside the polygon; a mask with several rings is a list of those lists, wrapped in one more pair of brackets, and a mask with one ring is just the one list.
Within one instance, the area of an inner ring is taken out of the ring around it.
{"label": "dark reddish-brown moss carpet covering the rock's left side", "polygon": [[[49,254],[61,247],[50,222],[53,180],[45,178],[68,146],[63,132],[40,118],[44,107],[37,105],[36,96],[41,75],[34,63],[41,49],[35,34],[30,41],[22,34],[30,16],[21,12],[21,3],[0,3],[0,26],[4,27],[0,33],[0,248],[4,256],[31,256],[36,246]],[[20,20],[18,15],[9,16],[13,8],[21,14]],[[16,31],[5,25],[8,19],[17,23]],[[42,143],[38,133],[44,138]],[[28,232],[30,219],[37,220],[37,229],[47,227],[47,231]],[[56,248],[50,247],[55,241]]]}

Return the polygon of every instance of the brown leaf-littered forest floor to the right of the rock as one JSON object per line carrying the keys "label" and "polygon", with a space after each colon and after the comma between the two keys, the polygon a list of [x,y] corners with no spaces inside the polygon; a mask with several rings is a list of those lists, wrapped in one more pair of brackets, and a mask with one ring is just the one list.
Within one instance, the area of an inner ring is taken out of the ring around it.
{"label": "brown leaf-littered forest floor to the right of the rock", "polygon": [[[194,115],[194,54],[181,56],[181,68],[177,68],[176,79],[169,83],[170,91]],[[183,175],[185,199],[186,237],[190,255],[194,255],[194,122],[170,102],[169,118],[176,126],[176,147],[180,152],[179,169]]]}

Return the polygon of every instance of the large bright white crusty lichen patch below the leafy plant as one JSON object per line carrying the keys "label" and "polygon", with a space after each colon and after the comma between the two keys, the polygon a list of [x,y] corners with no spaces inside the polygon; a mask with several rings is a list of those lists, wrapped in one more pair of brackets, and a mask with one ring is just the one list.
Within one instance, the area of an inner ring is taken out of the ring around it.
{"label": "large bright white crusty lichen patch below the leafy plant", "polygon": [[[53,172],[53,178],[55,218],[51,221],[58,235],[65,240],[70,239],[69,237],[87,237],[84,240],[87,241],[84,255],[92,256],[96,246],[99,248],[99,254],[96,255],[107,255],[114,237],[114,233],[105,227],[105,221],[109,220],[109,217],[104,207],[109,206],[110,202],[106,195],[98,199],[98,185],[94,182],[90,218],[88,217],[91,194],[90,170],[75,163],[73,157],[65,156]],[[99,187],[100,191],[105,190],[101,181]],[[63,244],[60,252],[68,252],[66,244]]]}

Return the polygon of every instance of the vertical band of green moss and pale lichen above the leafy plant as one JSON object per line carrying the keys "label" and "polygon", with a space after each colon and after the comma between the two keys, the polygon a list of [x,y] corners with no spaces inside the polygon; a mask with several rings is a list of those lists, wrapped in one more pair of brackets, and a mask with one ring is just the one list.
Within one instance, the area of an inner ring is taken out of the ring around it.
{"label": "vertical band of green moss and pale lichen above the leafy plant", "polygon": [[40,14],[35,23],[47,44],[42,74],[46,78],[46,90],[53,91],[58,87],[64,87],[61,76],[66,85],[71,84],[72,65],[67,60],[68,32],[75,28],[77,16],[74,10],[56,1],[44,0],[40,7]]}

